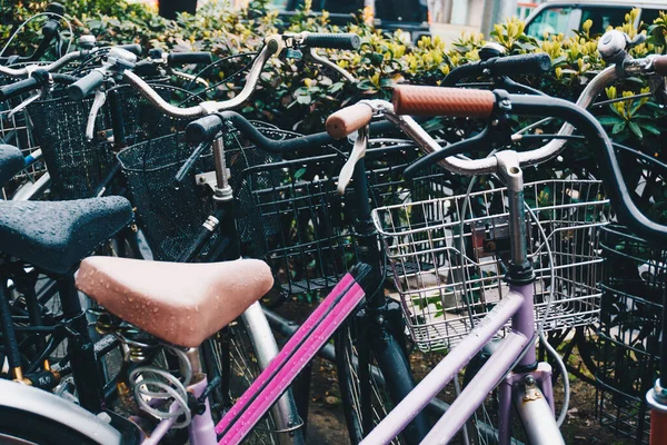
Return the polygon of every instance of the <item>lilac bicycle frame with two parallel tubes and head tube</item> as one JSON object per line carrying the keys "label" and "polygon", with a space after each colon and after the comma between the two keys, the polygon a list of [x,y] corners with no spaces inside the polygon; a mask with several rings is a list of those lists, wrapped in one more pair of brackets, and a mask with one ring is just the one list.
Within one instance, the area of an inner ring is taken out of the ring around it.
{"label": "lilac bicycle frame with two parallel tubes and head tube", "polygon": [[[506,378],[511,365],[519,358],[525,346],[535,334],[532,285],[510,285],[509,294],[502,298],[477,326],[440,360],[440,363],[406,396],[361,442],[364,445],[387,444],[397,437],[410,421],[424,409],[437,394],[472,359],[498,330],[512,320],[511,332],[481,367],[469,385],[459,394],[445,415],[431,428],[422,444],[447,443],[465,425],[480,406],[489,392]],[[535,363],[535,349],[529,348],[519,362]],[[550,369],[547,370],[547,375]],[[516,379],[516,378],[515,378]],[[545,379],[544,394],[551,398],[550,379]],[[509,441],[509,412],[511,387],[502,385],[499,413],[500,444]],[[552,409],[552,405],[551,405]]]}

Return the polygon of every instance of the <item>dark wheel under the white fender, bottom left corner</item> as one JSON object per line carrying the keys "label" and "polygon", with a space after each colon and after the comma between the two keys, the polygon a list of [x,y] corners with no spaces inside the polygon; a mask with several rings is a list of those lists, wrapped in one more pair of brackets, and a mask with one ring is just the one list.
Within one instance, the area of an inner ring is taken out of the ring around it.
{"label": "dark wheel under the white fender, bottom left corner", "polygon": [[0,407],[0,443],[8,445],[99,444],[50,418],[10,407]]}

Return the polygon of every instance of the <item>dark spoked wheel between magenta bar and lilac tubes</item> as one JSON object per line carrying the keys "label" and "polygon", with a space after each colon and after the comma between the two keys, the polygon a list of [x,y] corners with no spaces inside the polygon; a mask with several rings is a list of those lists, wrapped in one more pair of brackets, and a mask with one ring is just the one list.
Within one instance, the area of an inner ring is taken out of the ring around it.
{"label": "dark spoked wheel between magenta bar and lilac tubes", "polygon": [[[369,342],[372,334],[364,332],[369,323],[364,316],[354,317],[338,329],[335,337],[338,385],[352,444],[361,442],[402,398],[397,394],[401,392],[399,388],[408,392],[414,387],[405,352],[396,340],[382,340],[384,346],[390,349],[386,349],[385,357],[392,357],[389,358],[392,363],[380,365],[380,357],[372,350],[372,340]],[[392,374],[385,375],[381,369],[391,369]],[[409,382],[402,382],[406,377]],[[421,418],[410,424],[392,443],[418,443],[426,431],[427,425]]]}

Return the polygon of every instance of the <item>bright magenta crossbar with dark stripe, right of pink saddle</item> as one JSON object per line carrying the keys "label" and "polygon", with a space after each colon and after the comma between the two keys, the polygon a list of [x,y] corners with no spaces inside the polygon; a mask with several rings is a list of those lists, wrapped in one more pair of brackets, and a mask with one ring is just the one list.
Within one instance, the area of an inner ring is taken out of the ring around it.
{"label": "bright magenta crossbar with dark stripe, right of pink saddle", "polygon": [[216,434],[223,434],[219,445],[242,441],[364,297],[355,277],[346,274],[216,425]]}

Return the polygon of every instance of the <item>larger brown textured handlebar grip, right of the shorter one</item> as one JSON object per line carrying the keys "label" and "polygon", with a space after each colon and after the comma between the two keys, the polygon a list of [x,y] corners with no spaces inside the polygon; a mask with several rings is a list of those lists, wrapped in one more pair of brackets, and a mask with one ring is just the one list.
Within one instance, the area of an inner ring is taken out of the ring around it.
{"label": "larger brown textured handlebar grip, right of the shorter one", "polygon": [[486,118],[494,111],[496,96],[486,90],[400,85],[394,89],[392,102],[397,115]]}

